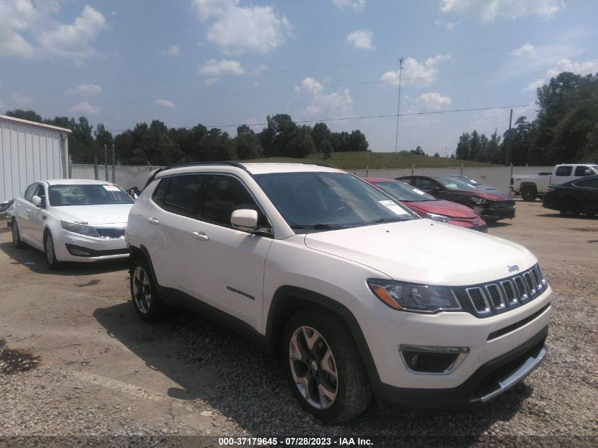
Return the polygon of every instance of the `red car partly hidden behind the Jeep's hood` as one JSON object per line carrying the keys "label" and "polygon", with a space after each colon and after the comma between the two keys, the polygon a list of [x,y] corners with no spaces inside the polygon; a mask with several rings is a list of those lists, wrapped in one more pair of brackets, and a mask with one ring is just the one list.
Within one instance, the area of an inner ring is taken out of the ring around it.
{"label": "red car partly hidden behind the Jeep's hood", "polygon": [[364,178],[364,180],[387,195],[391,195],[422,218],[488,233],[485,221],[465,205],[437,200],[434,196],[399,180],[385,178]]}

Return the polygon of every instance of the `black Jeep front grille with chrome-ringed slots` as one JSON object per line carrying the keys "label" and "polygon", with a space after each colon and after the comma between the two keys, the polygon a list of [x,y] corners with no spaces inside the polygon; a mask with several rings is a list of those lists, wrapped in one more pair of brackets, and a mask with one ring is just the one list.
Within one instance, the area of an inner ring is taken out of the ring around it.
{"label": "black Jeep front grille with chrome-ringed slots", "polygon": [[538,297],[546,289],[538,265],[497,282],[454,289],[463,308],[474,316],[487,317],[508,311]]}

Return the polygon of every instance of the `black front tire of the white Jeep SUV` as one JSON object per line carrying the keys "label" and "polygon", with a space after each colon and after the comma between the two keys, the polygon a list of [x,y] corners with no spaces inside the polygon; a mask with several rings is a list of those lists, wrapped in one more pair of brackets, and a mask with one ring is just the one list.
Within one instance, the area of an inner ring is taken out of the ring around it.
{"label": "black front tire of the white Jeep SUV", "polygon": [[[306,328],[318,333],[311,333],[313,350],[309,350],[306,343],[304,332],[309,331]],[[297,345],[292,345],[292,339]],[[325,347],[323,352],[322,345]],[[294,350],[294,347],[299,350]],[[322,355],[320,359],[318,351]],[[334,369],[330,369],[330,357],[326,358],[328,351],[332,355]],[[297,360],[296,357],[294,359],[292,352],[297,352],[302,360]],[[328,359],[328,369],[323,368],[324,358]],[[306,309],[290,318],[282,339],[282,362],[287,371],[289,385],[301,408],[323,422],[340,423],[350,420],[360,415],[372,401],[372,386],[352,336],[333,314],[318,309]],[[328,375],[330,370],[336,374],[334,381],[334,377]],[[304,374],[298,374],[303,371]],[[305,381],[308,392],[301,391],[302,386],[298,385],[294,375],[299,378],[298,381]],[[312,399],[310,403],[309,397],[316,395],[318,385],[321,384],[327,384],[326,389],[331,394],[335,391],[333,400],[320,394],[319,399]]]}

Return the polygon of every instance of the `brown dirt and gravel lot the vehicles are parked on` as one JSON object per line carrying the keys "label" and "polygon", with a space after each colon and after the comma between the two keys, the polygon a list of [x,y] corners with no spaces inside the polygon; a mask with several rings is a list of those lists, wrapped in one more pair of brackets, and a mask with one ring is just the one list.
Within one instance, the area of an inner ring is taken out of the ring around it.
{"label": "brown dirt and gravel lot the vehicles are parked on", "polygon": [[476,410],[371,408],[336,426],[303,413],[282,368],[235,333],[182,311],[156,326],[139,321],[126,263],[51,272],[42,253],[14,249],[8,229],[1,229],[1,436],[367,435],[388,442],[390,436],[430,435],[465,436],[468,444],[522,444],[542,436],[540,442],[597,442],[598,219],[565,219],[540,202],[517,202],[517,218],[490,228],[530,248],[554,290],[546,362],[522,384]]}

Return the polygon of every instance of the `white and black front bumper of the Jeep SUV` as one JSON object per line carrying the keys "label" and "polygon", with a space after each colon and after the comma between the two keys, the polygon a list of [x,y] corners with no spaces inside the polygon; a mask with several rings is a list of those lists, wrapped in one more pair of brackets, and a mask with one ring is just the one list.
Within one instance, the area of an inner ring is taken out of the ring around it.
{"label": "white and black front bumper of the Jeep SUV", "polygon": [[[450,407],[481,403],[483,397],[494,392],[490,390],[492,385],[482,387],[484,381],[490,381],[488,378],[493,372],[502,374],[498,380],[503,384],[509,387],[516,384],[537,364],[529,368],[529,363],[544,357],[541,350],[551,314],[551,293],[547,285],[542,294],[517,308],[478,318],[461,311],[438,314],[395,311],[369,290],[364,292],[352,301],[350,311],[360,322],[372,355],[372,363],[367,367],[374,391],[386,401],[407,406],[438,407],[446,402]],[[384,331],[380,331],[381,328]],[[466,348],[468,351],[459,365],[447,372],[413,372],[399,351],[401,345]],[[510,368],[508,372],[500,370],[526,353],[526,360],[521,360],[519,365],[505,367]],[[518,369],[524,365],[527,372],[522,374]],[[496,388],[499,394],[508,389],[506,386]],[[411,396],[413,398],[409,398]],[[484,400],[490,398],[493,397]]]}

